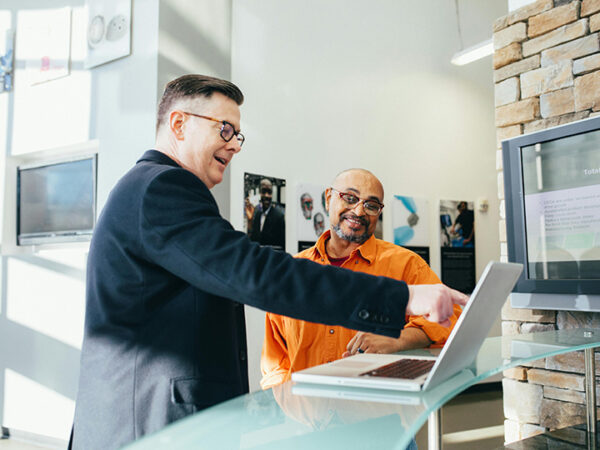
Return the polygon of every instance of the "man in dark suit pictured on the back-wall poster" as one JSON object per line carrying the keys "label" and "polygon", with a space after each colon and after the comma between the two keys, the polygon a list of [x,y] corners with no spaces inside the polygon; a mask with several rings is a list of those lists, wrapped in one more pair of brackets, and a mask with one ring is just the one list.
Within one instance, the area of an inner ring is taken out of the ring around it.
{"label": "man in dark suit pictured on the back-wall poster", "polygon": [[285,250],[285,215],[273,203],[273,183],[268,178],[260,180],[260,204],[254,208],[250,229],[250,239],[260,245],[269,245],[277,250]]}

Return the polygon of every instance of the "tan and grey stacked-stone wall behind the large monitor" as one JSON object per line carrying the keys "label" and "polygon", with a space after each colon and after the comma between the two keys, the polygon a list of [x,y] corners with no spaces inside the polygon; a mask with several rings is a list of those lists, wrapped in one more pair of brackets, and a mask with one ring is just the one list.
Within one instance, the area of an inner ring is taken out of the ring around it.
{"label": "tan and grey stacked-stone wall behind the large monitor", "polygon": [[[599,30],[600,0],[539,0],[494,23],[496,166],[504,260],[501,141],[600,114]],[[510,302],[502,311],[503,335],[583,326],[600,327],[600,314],[512,309]],[[597,357],[597,370],[599,366]],[[506,442],[585,422],[583,373],[582,352],[505,371]]]}

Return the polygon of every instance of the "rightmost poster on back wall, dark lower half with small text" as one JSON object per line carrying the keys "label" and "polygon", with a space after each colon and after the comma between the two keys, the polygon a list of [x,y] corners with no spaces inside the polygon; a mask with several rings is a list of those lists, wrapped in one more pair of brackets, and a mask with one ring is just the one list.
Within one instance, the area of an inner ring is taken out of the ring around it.
{"label": "rightmost poster on back wall, dark lower half with small text", "polygon": [[475,287],[473,202],[440,200],[442,283],[470,294]]}

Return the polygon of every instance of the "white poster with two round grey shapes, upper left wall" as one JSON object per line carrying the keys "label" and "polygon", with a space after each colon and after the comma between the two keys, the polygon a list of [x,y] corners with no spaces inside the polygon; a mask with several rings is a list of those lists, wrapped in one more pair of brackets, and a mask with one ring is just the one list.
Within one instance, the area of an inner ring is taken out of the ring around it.
{"label": "white poster with two round grey shapes, upper left wall", "polygon": [[99,66],[131,53],[131,0],[86,1],[84,67]]}

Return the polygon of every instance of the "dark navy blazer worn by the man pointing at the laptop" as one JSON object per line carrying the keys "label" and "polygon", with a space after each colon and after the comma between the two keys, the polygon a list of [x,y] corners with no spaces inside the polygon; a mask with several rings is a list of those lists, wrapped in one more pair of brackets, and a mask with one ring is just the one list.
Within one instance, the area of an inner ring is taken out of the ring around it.
{"label": "dark navy blazer worn by the man pointing at the laptop", "polygon": [[150,150],[91,242],[73,448],[120,448],[248,392],[240,303],[398,336],[407,298],[402,282],[251,242],[202,181]]}

